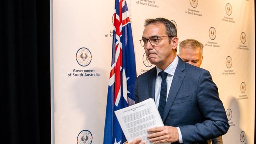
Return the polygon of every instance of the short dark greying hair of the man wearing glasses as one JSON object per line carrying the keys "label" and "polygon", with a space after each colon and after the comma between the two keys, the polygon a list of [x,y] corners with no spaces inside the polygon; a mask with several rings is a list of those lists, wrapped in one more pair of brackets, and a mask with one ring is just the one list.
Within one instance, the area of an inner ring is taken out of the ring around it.
{"label": "short dark greying hair of the man wearing glasses", "polygon": [[[166,18],[154,18],[154,19],[146,19],[145,20],[145,27],[150,25],[150,24],[156,24],[156,23],[162,23],[165,25],[165,32],[169,37],[169,43],[171,43],[171,39],[173,37],[177,37],[177,29],[176,26],[173,24],[173,22],[171,22],[170,20],[166,19]],[[175,51],[177,52],[177,48],[175,49]]]}

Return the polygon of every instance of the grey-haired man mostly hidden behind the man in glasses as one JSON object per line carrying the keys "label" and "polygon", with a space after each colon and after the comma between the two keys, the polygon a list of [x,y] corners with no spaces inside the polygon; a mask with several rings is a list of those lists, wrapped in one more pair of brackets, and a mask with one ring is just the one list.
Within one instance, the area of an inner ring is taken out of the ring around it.
{"label": "grey-haired man mostly hidden behind the man in glasses", "polygon": [[[203,60],[203,48],[204,45],[195,39],[186,39],[180,42],[178,56],[191,65],[200,67]],[[222,137],[212,138],[207,141],[208,144],[223,144]]]}

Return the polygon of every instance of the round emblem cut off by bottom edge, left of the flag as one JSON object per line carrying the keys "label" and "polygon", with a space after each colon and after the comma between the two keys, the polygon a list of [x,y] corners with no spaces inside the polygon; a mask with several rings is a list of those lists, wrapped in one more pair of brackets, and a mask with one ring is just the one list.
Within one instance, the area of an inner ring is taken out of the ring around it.
{"label": "round emblem cut off by bottom edge, left of the flag", "polygon": [[88,130],[81,131],[76,138],[77,144],[91,144],[92,141],[93,135]]}

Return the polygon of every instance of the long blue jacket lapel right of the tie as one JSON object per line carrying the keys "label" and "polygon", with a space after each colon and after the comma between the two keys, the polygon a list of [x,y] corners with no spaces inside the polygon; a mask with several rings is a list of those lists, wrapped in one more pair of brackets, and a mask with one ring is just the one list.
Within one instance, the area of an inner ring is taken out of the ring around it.
{"label": "long blue jacket lapel right of the tie", "polygon": [[182,59],[179,58],[179,62],[174,72],[173,81],[165,105],[163,122],[165,121],[171,107],[173,106],[173,102],[178,94],[178,91],[180,90],[180,86],[182,85],[183,79],[185,77],[185,74],[182,73],[183,70],[185,70],[185,63],[182,61]]}

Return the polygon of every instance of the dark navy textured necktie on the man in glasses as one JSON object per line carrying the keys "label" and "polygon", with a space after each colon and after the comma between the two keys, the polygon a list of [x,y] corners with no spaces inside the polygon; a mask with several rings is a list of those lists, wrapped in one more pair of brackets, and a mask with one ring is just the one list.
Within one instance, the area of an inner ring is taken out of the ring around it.
{"label": "dark navy textured necktie on the man in glasses", "polygon": [[166,103],[166,96],[167,96],[167,83],[166,83],[167,73],[164,71],[161,71],[158,74],[158,76],[161,76],[162,78],[158,111],[160,113],[161,118],[163,119],[163,111],[165,110],[165,103]]}

